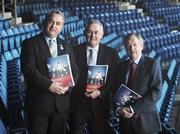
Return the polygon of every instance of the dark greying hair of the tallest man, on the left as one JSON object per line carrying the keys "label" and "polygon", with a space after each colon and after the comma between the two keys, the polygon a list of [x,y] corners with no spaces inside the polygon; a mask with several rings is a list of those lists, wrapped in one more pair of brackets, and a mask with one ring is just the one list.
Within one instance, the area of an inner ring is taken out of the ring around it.
{"label": "dark greying hair of the tallest man, on the left", "polygon": [[53,14],[59,14],[59,15],[63,18],[63,20],[65,21],[64,14],[63,14],[60,10],[52,10],[50,13],[48,13],[48,14],[46,15],[46,18],[45,18],[44,21],[43,21],[43,27],[45,27],[45,25],[46,25],[47,22],[50,20],[50,18],[51,18],[51,16],[52,16]]}

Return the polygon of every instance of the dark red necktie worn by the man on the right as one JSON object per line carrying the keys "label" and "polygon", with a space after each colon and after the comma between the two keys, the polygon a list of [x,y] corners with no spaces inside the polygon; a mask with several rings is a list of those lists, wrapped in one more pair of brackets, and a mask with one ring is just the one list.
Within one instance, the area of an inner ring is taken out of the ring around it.
{"label": "dark red necktie worn by the man on the right", "polygon": [[128,82],[127,82],[127,86],[129,88],[132,87],[132,83],[133,83],[133,80],[134,80],[134,75],[135,75],[136,68],[137,68],[136,63],[132,62],[130,64],[129,77],[128,77]]}

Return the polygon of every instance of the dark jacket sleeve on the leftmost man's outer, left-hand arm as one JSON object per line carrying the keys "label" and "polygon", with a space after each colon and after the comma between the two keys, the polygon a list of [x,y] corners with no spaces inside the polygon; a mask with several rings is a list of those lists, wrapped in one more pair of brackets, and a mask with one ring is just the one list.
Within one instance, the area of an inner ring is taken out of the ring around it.
{"label": "dark jacket sleeve on the leftmost man's outer, left-hand arm", "polygon": [[[37,56],[35,45],[29,40],[25,40],[21,50],[21,68],[28,86],[38,88],[40,90],[49,89],[52,81],[48,79],[47,72],[40,73],[37,69]],[[43,64],[43,63],[38,63]],[[43,65],[42,65],[43,66]],[[42,67],[44,69],[44,67]]]}

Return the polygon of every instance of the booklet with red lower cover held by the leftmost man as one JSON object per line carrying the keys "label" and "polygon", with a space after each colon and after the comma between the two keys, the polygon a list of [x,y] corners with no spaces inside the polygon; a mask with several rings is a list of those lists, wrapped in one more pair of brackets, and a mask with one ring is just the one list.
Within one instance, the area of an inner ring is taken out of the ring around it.
{"label": "booklet with red lower cover held by the leftmost man", "polygon": [[49,78],[52,81],[57,81],[63,86],[74,86],[74,79],[68,54],[48,58],[47,67]]}

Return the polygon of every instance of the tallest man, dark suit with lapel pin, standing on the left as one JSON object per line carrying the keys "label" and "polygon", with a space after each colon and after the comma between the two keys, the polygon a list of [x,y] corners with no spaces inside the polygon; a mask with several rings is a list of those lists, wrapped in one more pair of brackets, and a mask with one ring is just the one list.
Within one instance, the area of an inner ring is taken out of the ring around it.
{"label": "tallest man, dark suit with lapel pin, standing on the left", "polygon": [[[64,24],[64,15],[58,10],[50,12],[43,23],[43,32],[23,42],[21,66],[27,90],[25,108],[27,110],[29,131],[32,134],[66,132],[69,112],[69,93],[71,88],[49,78],[47,59],[68,54],[75,81],[77,65],[73,49],[58,38]],[[54,39],[53,52],[49,40]]]}

